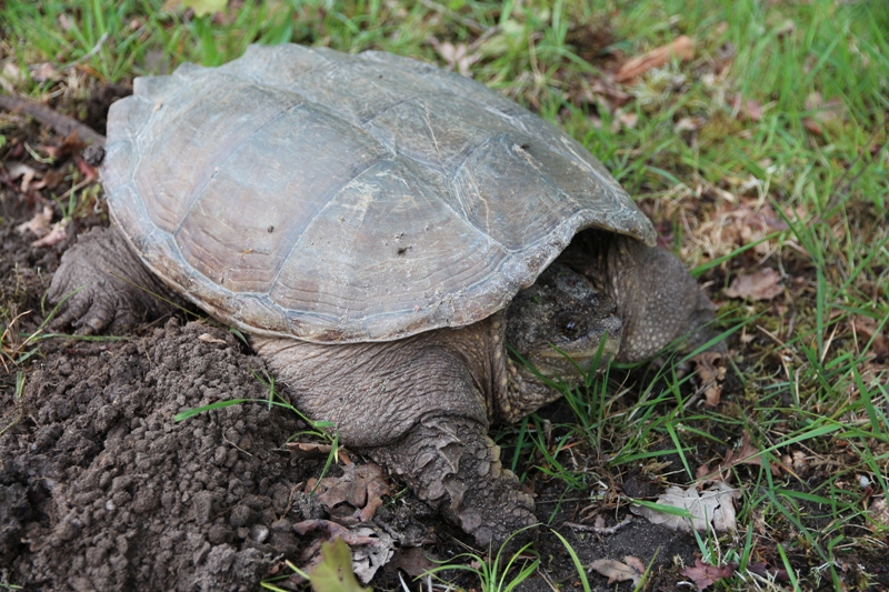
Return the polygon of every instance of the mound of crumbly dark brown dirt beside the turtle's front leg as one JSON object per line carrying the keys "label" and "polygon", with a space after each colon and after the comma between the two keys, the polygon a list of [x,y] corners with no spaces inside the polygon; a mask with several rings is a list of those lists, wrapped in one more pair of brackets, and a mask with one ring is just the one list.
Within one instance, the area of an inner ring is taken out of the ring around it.
{"label": "mound of crumbly dark brown dirt beside the turtle's front leg", "polygon": [[10,583],[254,589],[298,546],[299,518],[283,516],[307,464],[280,446],[301,425],[256,403],[173,421],[216,401],[266,398],[251,370],[261,375],[262,361],[228,332],[176,320],[150,338],[50,354],[0,437],[0,568]]}

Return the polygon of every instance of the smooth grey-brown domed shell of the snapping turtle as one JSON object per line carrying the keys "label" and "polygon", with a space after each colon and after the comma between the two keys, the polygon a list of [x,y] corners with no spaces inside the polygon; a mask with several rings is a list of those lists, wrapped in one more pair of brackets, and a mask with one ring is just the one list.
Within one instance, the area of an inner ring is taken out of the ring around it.
{"label": "smooth grey-brown domed shell of the snapping turtle", "polygon": [[462,327],[586,228],[655,230],[580,143],[478,82],[383,52],[251,46],[111,106],[113,220],[176,291],[319,343]]}

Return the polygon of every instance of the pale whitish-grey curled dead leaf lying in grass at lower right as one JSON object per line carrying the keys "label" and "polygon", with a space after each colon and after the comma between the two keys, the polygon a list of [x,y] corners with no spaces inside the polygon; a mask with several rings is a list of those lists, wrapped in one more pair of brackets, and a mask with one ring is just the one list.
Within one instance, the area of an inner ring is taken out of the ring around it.
{"label": "pale whitish-grey curled dead leaf lying in grass at lower right", "polygon": [[739,490],[722,481],[700,493],[693,485],[688,489],[671,485],[658,498],[657,503],[686,510],[690,519],[648,506],[635,506],[632,511],[652,524],[663,524],[680,532],[690,532],[692,529],[705,531],[710,524],[717,532],[729,532],[736,528],[735,499],[740,496]]}

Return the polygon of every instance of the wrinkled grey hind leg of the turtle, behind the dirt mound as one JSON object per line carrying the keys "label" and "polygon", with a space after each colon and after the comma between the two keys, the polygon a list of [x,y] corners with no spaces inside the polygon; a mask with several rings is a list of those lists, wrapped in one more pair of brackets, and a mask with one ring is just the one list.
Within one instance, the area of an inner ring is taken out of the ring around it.
{"label": "wrinkled grey hind leg of the turtle, behind the dirt mound", "polygon": [[50,302],[61,303],[52,327],[78,333],[124,332],[158,318],[169,305],[153,294],[163,285],[116,229],[92,229],[62,255],[52,277]]}

